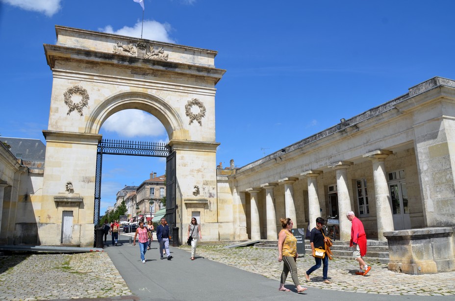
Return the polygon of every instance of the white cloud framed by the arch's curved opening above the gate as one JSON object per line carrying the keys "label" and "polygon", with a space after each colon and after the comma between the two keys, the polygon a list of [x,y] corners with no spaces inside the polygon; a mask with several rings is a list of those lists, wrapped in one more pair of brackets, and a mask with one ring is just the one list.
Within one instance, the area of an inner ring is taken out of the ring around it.
{"label": "white cloud framed by the arch's curved opening above the gate", "polygon": [[161,122],[151,114],[140,110],[123,110],[107,118],[102,129],[115,132],[120,137],[159,137],[167,135]]}

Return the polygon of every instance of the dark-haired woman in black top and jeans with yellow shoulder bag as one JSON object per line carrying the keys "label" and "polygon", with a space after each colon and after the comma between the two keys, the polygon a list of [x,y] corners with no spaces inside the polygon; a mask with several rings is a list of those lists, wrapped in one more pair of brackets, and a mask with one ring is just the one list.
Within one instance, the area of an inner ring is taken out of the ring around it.
{"label": "dark-haired woman in black top and jeans with yellow shoulder bag", "polygon": [[311,255],[314,257],[315,265],[305,272],[306,281],[310,281],[310,274],[319,269],[322,262],[324,264],[324,267],[322,268],[323,281],[324,283],[331,283],[330,280],[327,279],[327,273],[329,272],[329,256],[325,254],[324,258],[319,258],[314,255],[315,248],[326,250],[328,238],[326,237],[327,233],[324,233],[324,229],[322,228],[325,222],[326,221],[322,217],[316,218],[316,227],[311,229],[310,232]]}

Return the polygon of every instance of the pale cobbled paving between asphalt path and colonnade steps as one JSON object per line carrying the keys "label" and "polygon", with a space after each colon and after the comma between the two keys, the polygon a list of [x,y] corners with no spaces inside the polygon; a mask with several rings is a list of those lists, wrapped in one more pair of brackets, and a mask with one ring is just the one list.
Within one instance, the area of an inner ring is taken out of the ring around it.
{"label": "pale cobbled paving between asphalt path and colonnade steps", "polygon": [[[191,251],[191,247],[186,245],[180,248]],[[277,280],[283,269],[283,263],[278,262],[277,249],[226,249],[221,245],[200,245],[196,250],[196,257],[199,256]],[[455,295],[455,272],[407,275],[389,271],[387,264],[368,262],[368,257],[365,257],[365,261],[371,265],[371,270],[367,276],[359,276],[355,275],[358,263],[354,259],[329,260],[328,278],[332,283],[326,284],[322,282],[322,266],[310,275],[310,282],[305,281],[305,272],[315,264],[311,255],[305,255],[297,259],[299,280],[304,287],[338,291],[385,295]],[[287,284],[294,284],[290,275]]]}

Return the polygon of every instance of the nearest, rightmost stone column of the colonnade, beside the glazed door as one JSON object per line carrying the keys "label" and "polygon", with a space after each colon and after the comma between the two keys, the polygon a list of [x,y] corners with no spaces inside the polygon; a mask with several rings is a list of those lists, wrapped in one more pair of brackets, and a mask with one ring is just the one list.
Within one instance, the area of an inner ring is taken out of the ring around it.
{"label": "nearest, rightmost stone column of the colonnade, beside the glazed door", "polygon": [[390,208],[389,186],[385,172],[385,158],[392,154],[389,150],[376,150],[363,155],[373,162],[373,179],[375,181],[376,218],[378,223],[378,240],[387,240],[383,232],[394,231],[392,208]]}

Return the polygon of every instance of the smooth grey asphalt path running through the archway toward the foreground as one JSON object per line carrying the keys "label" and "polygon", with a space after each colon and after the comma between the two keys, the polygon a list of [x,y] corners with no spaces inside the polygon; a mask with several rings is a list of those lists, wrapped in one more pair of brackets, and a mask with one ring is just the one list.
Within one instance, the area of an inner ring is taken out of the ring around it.
{"label": "smooth grey asphalt path running through the archway toward the foreground", "polygon": [[[117,247],[104,248],[126,284],[135,296],[111,300],[349,300],[349,301],[449,301],[453,296],[390,296],[349,293],[309,288],[297,294],[293,284],[286,283],[290,292],[279,292],[279,279],[246,272],[212,260],[170,247],[172,260],[160,260],[158,242],[140,260],[139,246],[129,244],[130,236],[121,234]],[[302,271],[300,271],[302,273]],[[289,275],[290,278],[290,275]],[[305,283],[302,283],[303,286]]]}

